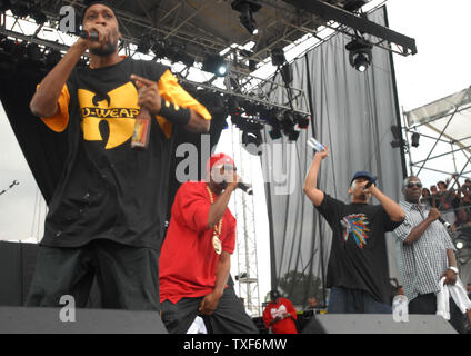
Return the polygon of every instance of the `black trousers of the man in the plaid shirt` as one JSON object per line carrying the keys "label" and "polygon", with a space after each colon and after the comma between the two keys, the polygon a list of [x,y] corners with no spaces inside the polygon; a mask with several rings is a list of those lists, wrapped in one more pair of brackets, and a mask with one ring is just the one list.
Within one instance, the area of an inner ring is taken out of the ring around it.
{"label": "black trousers of the man in the plaid shirt", "polygon": [[[433,293],[420,294],[409,301],[409,314],[437,314],[437,296]],[[465,316],[450,298],[450,324],[460,333],[465,334]]]}

